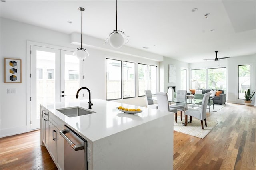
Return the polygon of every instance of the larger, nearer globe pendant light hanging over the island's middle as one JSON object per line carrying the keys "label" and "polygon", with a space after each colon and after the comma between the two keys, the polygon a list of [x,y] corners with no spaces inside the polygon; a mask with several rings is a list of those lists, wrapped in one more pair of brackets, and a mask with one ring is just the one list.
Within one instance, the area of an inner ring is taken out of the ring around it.
{"label": "larger, nearer globe pendant light hanging over the island's middle", "polygon": [[105,40],[106,43],[110,43],[113,48],[120,48],[124,44],[128,43],[128,38],[124,32],[117,30],[117,0],[116,0],[116,30],[113,30],[112,33],[108,35],[108,38]]}

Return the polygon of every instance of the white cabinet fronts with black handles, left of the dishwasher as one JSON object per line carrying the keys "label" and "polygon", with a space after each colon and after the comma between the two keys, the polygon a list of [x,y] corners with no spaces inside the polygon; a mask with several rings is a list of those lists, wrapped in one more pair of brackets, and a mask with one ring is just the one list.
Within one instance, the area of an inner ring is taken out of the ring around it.
{"label": "white cabinet fronts with black handles, left of the dishwasher", "polygon": [[41,145],[46,147],[60,170],[64,170],[64,139],[60,136],[63,128],[63,121],[41,106]]}

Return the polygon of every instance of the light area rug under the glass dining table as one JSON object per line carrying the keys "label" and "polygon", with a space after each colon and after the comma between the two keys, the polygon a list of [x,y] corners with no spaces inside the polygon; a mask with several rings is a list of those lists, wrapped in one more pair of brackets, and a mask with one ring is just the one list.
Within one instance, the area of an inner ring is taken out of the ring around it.
{"label": "light area rug under the glass dining table", "polygon": [[[185,117],[183,119],[185,119]],[[188,116],[188,120],[189,120],[189,116]],[[203,130],[201,127],[201,121],[194,117],[192,117],[192,123],[188,123],[187,126],[183,126],[182,123],[184,123],[184,121],[180,121],[180,120],[177,120],[177,123],[176,123],[175,116],[174,116],[173,130],[184,133],[184,134],[188,134],[191,136],[195,136],[201,139],[205,138],[205,136],[209,134],[210,131],[217,125],[217,123],[207,121],[207,127],[204,124],[204,130]]]}

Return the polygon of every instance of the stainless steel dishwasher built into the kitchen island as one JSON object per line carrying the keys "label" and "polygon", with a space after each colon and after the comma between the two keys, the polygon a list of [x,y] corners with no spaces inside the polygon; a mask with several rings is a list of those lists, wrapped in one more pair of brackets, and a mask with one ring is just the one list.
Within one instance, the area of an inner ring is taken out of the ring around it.
{"label": "stainless steel dishwasher built into the kitchen island", "polygon": [[60,131],[64,140],[65,170],[87,170],[87,141],[64,125]]}

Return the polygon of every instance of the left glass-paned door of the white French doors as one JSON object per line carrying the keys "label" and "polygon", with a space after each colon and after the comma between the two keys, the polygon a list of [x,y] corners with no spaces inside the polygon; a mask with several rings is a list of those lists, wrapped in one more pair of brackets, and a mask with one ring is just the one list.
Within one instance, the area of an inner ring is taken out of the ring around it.
{"label": "left glass-paned door of the white French doors", "polygon": [[60,102],[60,50],[31,46],[31,130],[40,128],[40,104]]}

